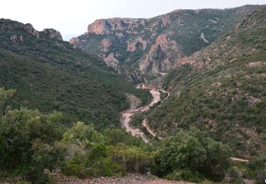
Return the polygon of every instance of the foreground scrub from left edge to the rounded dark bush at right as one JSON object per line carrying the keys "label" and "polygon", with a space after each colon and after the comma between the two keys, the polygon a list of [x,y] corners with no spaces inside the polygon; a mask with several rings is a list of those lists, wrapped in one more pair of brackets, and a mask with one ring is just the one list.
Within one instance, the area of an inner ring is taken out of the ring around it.
{"label": "foreground scrub from left edge to the rounded dark bush at right", "polygon": [[62,113],[12,110],[4,104],[13,93],[0,88],[1,178],[24,176],[46,183],[49,177],[44,169],[58,167],[67,176],[86,178],[144,173],[152,166],[153,154],[141,139],[118,129],[101,134],[84,122],[67,128],[62,124]]}

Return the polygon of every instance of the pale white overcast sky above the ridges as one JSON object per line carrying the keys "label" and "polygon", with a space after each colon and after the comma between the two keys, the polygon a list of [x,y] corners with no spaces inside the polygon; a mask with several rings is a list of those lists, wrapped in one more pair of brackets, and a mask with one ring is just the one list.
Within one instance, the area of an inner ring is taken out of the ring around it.
{"label": "pale white overcast sky above the ridges", "polygon": [[1,0],[0,18],[81,35],[97,18],[150,18],[184,8],[231,8],[266,0]]}

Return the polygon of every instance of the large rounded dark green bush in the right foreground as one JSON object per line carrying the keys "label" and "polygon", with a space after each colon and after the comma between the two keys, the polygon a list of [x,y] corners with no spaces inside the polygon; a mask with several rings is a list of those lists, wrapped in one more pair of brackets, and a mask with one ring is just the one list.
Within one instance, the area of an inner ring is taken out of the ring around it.
{"label": "large rounded dark green bush in the right foreground", "polygon": [[155,157],[159,176],[174,171],[192,171],[212,180],[222,180],[230,166],[231,149],[194,128],[166,138]]}

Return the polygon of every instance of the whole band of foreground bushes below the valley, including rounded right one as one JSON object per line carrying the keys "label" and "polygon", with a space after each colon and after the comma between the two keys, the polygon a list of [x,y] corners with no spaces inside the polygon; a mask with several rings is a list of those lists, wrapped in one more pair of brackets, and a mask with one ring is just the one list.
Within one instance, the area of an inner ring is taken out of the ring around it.
{"label": "whole band of foreground bushes below the valley, including rounded right one", "polygon": [[171,180],[201,182],[221,180],[231,164],[228,146],[199,130],[179,132],[160,144],[145,144],[119,129],[100,133],[84,122],[67,128],[62,113],[13,110],[6,105],[13,93],[0,88],[1,180],[21,176],[34,183],[55,182],[47,171],[57,168],[79,178],[151,171]]}

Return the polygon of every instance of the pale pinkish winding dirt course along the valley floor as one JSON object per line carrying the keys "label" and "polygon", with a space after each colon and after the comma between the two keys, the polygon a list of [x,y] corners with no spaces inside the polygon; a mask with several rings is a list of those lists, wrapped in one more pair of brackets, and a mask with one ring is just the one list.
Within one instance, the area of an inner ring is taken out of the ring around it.
{"label": "pale pinkish winding dirt course along the valley floor", "polygon": [[[155,103],[159,102],[160,101],[160,91],[167,93],[167,98],[169,97],[170,94],[167,91],[164,91],[162,89],[148,87],[148,86],[145,86],[144,84],[140,84],[140,85],[136,86],[136,88],[143,88],[143,89],[150,90],[150,94],[153,96],[153,100],[147,106],[143,106],[143,107],[137,108],[135,110],[130,110],[130,109],[124,110],[121,113],[121,123],[122,123],[123,127],[126,128],[126,132],[131,132],[131,134],[133,136],[141,137],[144,142],[148,143],[148,139],[147,139],[147,137],[145,137],[145,134],[143,132],[141,132],[139,129],[135,129],[135,128],[131,127],[131,125],[130,125],[131,118],[133,117],[133,115],[135,113],[144,112],[146,110],[149,110],[151,106],[153,106],[153,105],[155,105]],[[165,98],[163,101],[165,101],[167,98]],[[148,126],[147,120],[143,120],[143,126],[147,128],[147,130],[148,130],[148,132],[150,132],[150,134],[152,134],[154,137],[156,136],[156,134],[152,130],[150,130],[150,127]],[[160,137],[159,139],[162,139],[162,138]]]}

